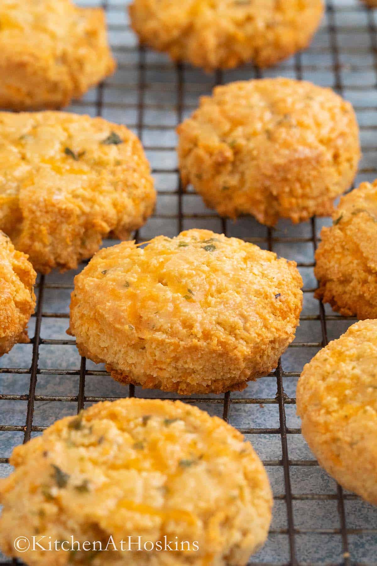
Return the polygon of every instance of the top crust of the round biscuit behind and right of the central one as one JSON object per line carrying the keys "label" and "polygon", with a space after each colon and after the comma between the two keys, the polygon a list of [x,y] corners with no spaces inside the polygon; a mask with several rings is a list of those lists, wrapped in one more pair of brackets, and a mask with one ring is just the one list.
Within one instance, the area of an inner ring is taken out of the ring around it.
{"label": "top crust of the round biscuit behind and right of the central one", "polygon": [[323,147],[335,151],[333,141],[355,126],[352,105],[332,89],[276,78],[215,87],[178,132],[219,165],[235,165],[246,156],[283,163]]}

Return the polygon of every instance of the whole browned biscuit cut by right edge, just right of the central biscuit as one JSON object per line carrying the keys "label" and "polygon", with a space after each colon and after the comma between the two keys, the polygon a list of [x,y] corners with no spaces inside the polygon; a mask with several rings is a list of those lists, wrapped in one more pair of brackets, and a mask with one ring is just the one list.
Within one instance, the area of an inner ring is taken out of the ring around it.
{"label": "whole browned biscuit cut by right edge, just right of the central biscuit", "polygon": [[359,319],[377,319],[377,181],[341,198],[315,252],[318,299]]}

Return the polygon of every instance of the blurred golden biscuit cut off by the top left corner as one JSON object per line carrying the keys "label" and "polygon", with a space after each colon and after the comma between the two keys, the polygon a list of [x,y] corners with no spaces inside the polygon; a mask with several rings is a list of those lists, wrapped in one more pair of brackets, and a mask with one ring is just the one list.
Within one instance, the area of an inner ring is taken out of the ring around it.
{"label": "blurred golden biscuit cut off by the top left corner", "polygon": [[60,108],[114,68],[100,8],[0,0],[0,108]]}

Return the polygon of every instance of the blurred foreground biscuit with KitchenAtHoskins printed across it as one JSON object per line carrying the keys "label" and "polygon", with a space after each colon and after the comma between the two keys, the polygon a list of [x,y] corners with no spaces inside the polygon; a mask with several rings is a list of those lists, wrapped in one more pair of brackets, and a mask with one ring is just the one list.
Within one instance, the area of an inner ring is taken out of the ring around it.
{"label": "blurred foreground biscuit with KitchenAtHoskins printed across it", "polygon": [[[272,495],[252,445],[180,401],[98,403],[16,447],[10,461],[15,471],[0,483],[6,554],[19,558],[21,532],[133,543],[123,552],[30,550],[22,559],[31,566],[244,566],[267,537]],[[151,550],[164,535],[172,551]],[[135,550],[137,537],[148,551]]]}

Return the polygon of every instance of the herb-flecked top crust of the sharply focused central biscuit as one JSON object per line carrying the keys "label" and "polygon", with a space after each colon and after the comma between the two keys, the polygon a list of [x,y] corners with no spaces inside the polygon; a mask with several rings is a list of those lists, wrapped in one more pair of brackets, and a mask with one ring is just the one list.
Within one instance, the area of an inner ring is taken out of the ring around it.
{"label": "herb-flecked top crust of the sharply focused central biscuit", "polygon": [[172,239],[158,236],[144,248],[123,242],[100,250],[75,277],[71,312],[72,306],[81,312],[76,303],[88,300],[103,328],[127,332],[131,340],[155,335],[186,344],[238,344],[246,352],[255,341],[294,334],[301,285],[294,261],[193,229]]}

